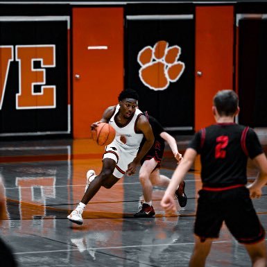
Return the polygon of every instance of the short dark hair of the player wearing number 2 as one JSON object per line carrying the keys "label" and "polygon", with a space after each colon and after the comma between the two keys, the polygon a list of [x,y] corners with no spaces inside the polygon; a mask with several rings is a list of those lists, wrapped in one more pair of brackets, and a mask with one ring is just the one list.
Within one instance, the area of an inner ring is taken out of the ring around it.
{"label": "short dark hair of the player wearing number 2", "polygon": [[233,90],[221,90],[213,98],[213,103],[221,116],[232,116],[239,106],[239,97]]}

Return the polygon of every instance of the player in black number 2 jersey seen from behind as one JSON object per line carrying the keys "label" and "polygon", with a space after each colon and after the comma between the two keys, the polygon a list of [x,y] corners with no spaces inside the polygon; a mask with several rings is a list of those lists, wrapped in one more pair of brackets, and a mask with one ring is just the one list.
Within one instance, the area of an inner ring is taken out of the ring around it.
{"label": "player in black number 2 jersey seen from behind", "polygon": [[[203,189],[199,191],[196,241],[189,266],[205,266],[212,239],[218,238],[225,222],[234,238],[245,246],[252,266],[264,267],[267,262],[265,230],[250,197],[261,196],[261,187],[267,182],[266,156],[254,130],[234,123],[239,107],[238,97],[232,90],[218,92],[212,110],[217,123],[193,137],[161,204],[167,213],[175,210],[173,191],[200,154]],[[260,173],[255,182],[246,187],[248,157],[259,166]]]}

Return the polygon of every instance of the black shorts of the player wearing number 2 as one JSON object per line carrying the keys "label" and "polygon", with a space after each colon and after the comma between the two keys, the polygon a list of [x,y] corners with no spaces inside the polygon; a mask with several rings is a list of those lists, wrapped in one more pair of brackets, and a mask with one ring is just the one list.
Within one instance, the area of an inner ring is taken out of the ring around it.
{"label": "black shorts of the player wearing number 2", "polygon": [[225,191],[200,190],[194,233],[205,241],[218,238],[223,222],[239,243],[262,241],[265,230],[246,187]]}

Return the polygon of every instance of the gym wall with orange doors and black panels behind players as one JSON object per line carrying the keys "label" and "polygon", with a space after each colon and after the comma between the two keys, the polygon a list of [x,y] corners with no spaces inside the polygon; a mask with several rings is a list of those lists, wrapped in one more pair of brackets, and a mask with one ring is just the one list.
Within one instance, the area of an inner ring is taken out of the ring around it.
{"label": "gym wall with orange doors and black panels behind players", "polygon": [[[0,138],[89,138],[124,88],[164,128],[193,133],[234,89],[266,127],[267,3],[0,1]],[[253,37],[251,37],[253,36]]]}

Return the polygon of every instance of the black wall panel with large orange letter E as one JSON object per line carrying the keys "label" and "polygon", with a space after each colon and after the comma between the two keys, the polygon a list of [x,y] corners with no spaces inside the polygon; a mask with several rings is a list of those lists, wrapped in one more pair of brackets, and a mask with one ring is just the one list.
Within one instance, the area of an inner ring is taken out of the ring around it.
{"label": "black wall panel with large orange letter E", "polygon": [[0,136],[68,133],[67,21],[14,18],[0,28]]}

